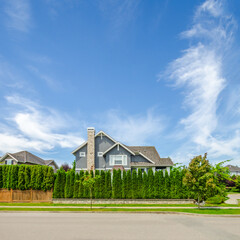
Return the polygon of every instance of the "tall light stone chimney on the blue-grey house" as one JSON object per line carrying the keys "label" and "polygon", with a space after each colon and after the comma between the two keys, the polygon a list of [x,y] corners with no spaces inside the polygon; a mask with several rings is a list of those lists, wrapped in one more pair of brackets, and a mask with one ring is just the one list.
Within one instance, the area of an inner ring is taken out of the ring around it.
{"label": "tall light stone chimney on the blue-grey house", "polygon": [[95,170],[95,128],[89,127],[87,144],[87,170]]}

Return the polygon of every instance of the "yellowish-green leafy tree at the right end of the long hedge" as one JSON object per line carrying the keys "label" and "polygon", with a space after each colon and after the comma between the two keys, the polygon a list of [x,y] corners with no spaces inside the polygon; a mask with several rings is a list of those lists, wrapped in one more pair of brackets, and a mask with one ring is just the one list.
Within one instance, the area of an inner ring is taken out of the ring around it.
{"label": "yellowish-green leafy tree at the right end of the long hedge", "polygon": [[206,200],[211,191],[215,192],[214,174],[206,153],[203,157],[199,155],[191,160],[186,169],[183,183],[194,193],[199,208],[200,202]]}

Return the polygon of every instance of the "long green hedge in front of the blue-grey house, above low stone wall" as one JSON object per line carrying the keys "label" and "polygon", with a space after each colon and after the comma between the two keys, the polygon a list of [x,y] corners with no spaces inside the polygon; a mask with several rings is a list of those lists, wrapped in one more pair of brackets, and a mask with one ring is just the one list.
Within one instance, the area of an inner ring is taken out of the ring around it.
{"label": "long green hedge in front of the blue-grey house, above low stone wall", "polygon": [[[1,173],[0,173],[1,174]],[[82,184],[87,175],[93,172],[73,170],[57,171],[54,184],[54,198],[89,198],[89,189]],[[152,169],[148,173],[130,170],[95,171],[96,178],[93,198],[96,199],[183,199],[192,198],[192,194],[183,186],[183,170],[173,168],[170,173]],[[64,192],[63,192],[64,191]]]}

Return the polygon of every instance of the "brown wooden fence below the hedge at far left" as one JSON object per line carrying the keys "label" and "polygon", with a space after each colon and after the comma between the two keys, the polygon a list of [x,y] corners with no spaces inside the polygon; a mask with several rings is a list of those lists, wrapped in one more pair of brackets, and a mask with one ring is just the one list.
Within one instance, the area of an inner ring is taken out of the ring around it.
{"label": "brown wooden fence below the hedge at far left", "polygon": [[0,189],[0,202],[52,202],[52,190],[8,190]]}

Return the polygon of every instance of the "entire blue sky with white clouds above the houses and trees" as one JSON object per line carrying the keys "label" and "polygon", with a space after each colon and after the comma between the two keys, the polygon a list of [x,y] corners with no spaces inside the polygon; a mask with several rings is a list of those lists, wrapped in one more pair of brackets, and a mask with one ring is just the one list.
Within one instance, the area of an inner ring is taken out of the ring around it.
{"label": "entire blue sky with white clouds above the houses and trees", "polygon": [[104,130],[240,164],[240,2],[2,0],[0,152],[59,164]]}

